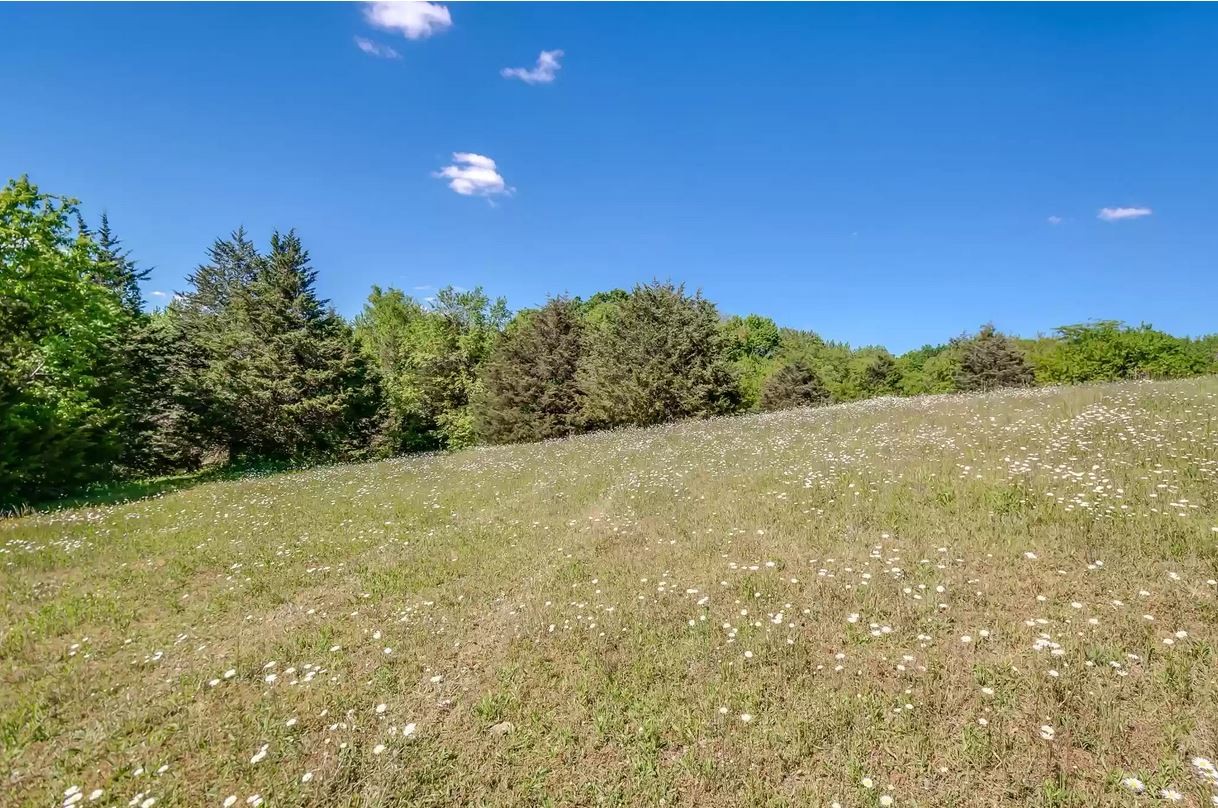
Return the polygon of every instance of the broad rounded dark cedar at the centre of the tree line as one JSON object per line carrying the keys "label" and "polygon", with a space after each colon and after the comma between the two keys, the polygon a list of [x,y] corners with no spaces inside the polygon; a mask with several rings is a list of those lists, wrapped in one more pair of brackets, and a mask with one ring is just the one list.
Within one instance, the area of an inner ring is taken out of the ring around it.
{"label": "broad rounded dark cedar at the centre of the tree line", "polygon": [[732,412],[741,395],[714,303],[683,286],[636,286],[580,368],[591,424],[658,424]]}

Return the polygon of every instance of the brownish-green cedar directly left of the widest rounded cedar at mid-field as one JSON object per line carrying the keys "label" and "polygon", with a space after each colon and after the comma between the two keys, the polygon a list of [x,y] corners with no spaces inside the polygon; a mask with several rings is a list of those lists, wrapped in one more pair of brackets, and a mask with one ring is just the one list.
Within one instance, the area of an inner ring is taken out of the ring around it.
{"label": "brownish-green cedar directly left of the widest rounded cedar at mid-field", "polygon": [[482,368],[482,392],[475,407],[481,439],[535,441],[581,430],[580,310],[577,302],[555,297],[516,316]]}

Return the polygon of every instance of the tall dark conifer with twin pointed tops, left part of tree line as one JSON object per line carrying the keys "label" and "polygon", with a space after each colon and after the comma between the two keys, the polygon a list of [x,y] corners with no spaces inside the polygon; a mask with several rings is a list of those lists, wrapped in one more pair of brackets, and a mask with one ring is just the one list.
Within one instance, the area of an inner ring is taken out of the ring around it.
{"label": "tall dark conifer with twin pointed tops, left part of tree line", "polygon": [[217,241],[158,334],[178,346],[161,418],[229,461],[357,457],[376,430],[375,373],[314,291],[295,232],[258,255],[242,230]]}

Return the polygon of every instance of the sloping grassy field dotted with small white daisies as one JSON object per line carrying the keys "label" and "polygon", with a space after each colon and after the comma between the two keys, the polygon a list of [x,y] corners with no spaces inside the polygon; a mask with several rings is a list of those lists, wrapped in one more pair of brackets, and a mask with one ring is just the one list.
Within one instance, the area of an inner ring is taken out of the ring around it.
{"label": "sloping grassy field dotted with small white daisies", "polygon": [[0,520],[0,803],[1208,806],[1216,578],[1218,379]]}

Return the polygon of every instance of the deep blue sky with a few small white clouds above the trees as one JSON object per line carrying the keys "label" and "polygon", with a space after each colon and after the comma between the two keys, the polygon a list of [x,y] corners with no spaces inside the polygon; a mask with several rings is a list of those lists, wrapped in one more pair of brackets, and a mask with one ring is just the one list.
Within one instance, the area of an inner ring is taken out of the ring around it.
{"label": "deep blue sky with a few small white clouds above the trees", "polygon": [[107,210],[149,292],[244,224],[296,227],[347,316],[671,278],[893,350],[1218,330],[1218,7],[375,12],[2,5],[0,174]]}

